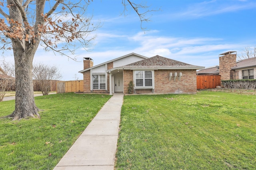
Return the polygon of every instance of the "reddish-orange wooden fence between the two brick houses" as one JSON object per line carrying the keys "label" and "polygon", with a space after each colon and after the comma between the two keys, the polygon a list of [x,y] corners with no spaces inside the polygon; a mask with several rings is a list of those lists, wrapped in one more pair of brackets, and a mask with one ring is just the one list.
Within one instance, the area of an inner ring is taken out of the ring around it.
{"label": "reddish-orange wooden fence between the two brick houses", "polygon": [[214,89],[220,86],[220,75],[197,75],[197,89]]}

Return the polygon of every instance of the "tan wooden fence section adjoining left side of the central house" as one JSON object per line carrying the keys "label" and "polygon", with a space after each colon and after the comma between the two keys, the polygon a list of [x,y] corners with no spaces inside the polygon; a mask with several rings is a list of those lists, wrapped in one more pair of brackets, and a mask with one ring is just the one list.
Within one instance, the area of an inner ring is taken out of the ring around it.
{"label": "tan wooden fence section adjoining left side of the central house", "polygon": [[57,84],[57,93],[68,93],[68,92],[83,92],[84,81],[59,81]]}

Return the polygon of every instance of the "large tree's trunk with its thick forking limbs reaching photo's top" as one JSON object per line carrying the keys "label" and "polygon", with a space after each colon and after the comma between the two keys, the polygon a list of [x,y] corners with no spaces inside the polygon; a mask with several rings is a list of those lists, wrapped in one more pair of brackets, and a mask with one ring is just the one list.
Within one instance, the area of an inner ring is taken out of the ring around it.
{"label": "large tree's trunk with its thick forking limbs reaching photo's top", "polygon": [[[31,0],[27,1],[32,2]],[[9,115],[14,120],[35,117],[40,118],[38,108],[34,101],[33,81],[32,81],[32,61],[36,49],[38,48],[41,35],[33,36],[28,34],[31,31],[38,33],[38,25],[44,24],[44,4],[45,0],[36,0],[36,22],[31,29],[27,24],[27,16],[22,5],[23,0],[7,0],[9,7],[10,28],[18,29],[20,33],[16,36],[10,34],[12,40],[12,48],[15,61],[15,80],[16,80],[16,95],[15,95],[15,110]],[[20,6],[20,8],[18,8]],[[27,7],[28,8],[28,7]],[[28,14],[30,16],[30,14]],[[30,19],[29,19],[30,20]],[[10,30],[12,32],[13,30]],[[8,30],[9,32],[9,30]],[[27,37],[28,36],[28,37]],[[30,40],[27,40],[30,38]]]}

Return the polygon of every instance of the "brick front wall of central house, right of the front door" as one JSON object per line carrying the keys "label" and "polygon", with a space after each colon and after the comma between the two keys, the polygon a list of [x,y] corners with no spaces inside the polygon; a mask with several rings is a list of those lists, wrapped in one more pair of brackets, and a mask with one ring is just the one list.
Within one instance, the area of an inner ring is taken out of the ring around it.
{"label": "brick front wall of central house, right of the front door", "polygon": [[[182,72],[182,77],[174,76],[169,81],[170,73]],[[196,93],[196,70],[155,70],[155,89],[154,93]],[[133,71],[124,70],[124,94],[128,94],[128,84],[133,81]],[[136,93],[152,93],[150,89],[138,89]]]}

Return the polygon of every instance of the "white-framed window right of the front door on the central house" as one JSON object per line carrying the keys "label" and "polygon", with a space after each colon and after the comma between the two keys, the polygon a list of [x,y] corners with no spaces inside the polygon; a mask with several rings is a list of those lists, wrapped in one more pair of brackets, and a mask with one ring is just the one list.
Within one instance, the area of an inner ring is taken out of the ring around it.
{"label": "white-framed window right of the front door on the central house", "polygon": [[135,87],[152,87],[153,71],[135,71]]}

